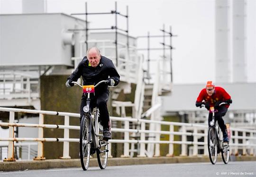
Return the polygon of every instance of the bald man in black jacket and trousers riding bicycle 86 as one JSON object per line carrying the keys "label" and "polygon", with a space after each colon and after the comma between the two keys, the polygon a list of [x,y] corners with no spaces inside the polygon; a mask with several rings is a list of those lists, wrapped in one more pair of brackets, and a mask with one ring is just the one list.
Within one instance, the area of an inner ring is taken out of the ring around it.
{"label": "bald man in black jacket and trousers riding bicycle 86", "polygon": [[[73,81],[77,81],[82,76],[83,85],[96,85],[102,80],[109,80],[109,84],[101,84],[95,88],[95,93],[90,95],[91,110],[97,107],[100,110],[100,119],[103,126],[103,139],[111,139],[110,132],[110,116],[107,108],[107,101],[109,100],[109,85],[116,86],[119,84],[119,74],[112,62],[112,60],[101,56],[100,50],[96,47],[88,49],[87,56],[78,64],[73,73],[66,81],[67,87],[72,87]],[[84,114],[83,107],[86,105],[87,94],[82,94],[80,106],[80,121]]]}

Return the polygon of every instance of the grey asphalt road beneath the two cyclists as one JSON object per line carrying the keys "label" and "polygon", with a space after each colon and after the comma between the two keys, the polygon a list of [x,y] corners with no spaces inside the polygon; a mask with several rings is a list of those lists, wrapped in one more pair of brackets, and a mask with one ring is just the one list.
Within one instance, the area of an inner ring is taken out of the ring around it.
{"label": "grey asphalt road beneath the two cyclists", "polygon": [[256,161],[175,163],[0,172],[0,177],[256,177]]}

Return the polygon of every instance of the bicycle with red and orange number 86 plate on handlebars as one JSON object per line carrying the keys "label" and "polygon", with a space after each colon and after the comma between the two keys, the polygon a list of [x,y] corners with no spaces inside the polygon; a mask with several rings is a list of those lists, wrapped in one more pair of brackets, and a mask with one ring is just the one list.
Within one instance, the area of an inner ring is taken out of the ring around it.
{"label": "bicycle with red and orange number 86 plate on handlebars", "polygon": [[99,121],[99,109],[96,107],[94,118],[91,116],[90,109],[90,93],[94,93],[94,88],[101,83],[108,84],[108,80],[103,80],[96,85],[80,85],[77,82],[72,82],[83,88],[83,93],[88,93],[86,106],[83,107],[84,115],[80,123],[80,160],[83,170],[89,167],[90,155],[97,153],[98,164],[101,169],[106,169],[108,163],[109,142],[103,140],[103,126]]}

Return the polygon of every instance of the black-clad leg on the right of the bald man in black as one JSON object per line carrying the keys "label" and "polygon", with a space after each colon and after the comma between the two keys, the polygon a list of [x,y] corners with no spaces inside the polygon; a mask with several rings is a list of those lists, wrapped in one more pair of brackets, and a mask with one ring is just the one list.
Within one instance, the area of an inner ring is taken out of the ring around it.
{"label": "black-clad leg on the right of the bald man in black", "polygon": [[97,107],[100,110],[100,119],[101,124],[103,126],[103,139],[108,140],[111,139],[110,133],[110,115],[107,107],[107,102],[109,100],[109,91],[105,91],[98,95],[97,98]]}

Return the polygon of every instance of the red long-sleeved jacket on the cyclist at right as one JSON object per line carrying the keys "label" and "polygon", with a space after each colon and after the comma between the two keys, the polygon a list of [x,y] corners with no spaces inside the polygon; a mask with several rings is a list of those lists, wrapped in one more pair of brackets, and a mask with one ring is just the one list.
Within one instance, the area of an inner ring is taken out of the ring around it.
{"label": "red long-sleeved jacket on the cyclist at right", "polygon": [[[226,101],[231,99],[229,93],[227,93],[222,87],[215,87],[214,93],[209,96],[206,92],[206,88],[202,89],[199,93],[199,96],[196,102],[208,101],[210,103],[210,107],[214,106],[215,102],[217,101]],[[225,105],[229,108],[229,105]]]}

